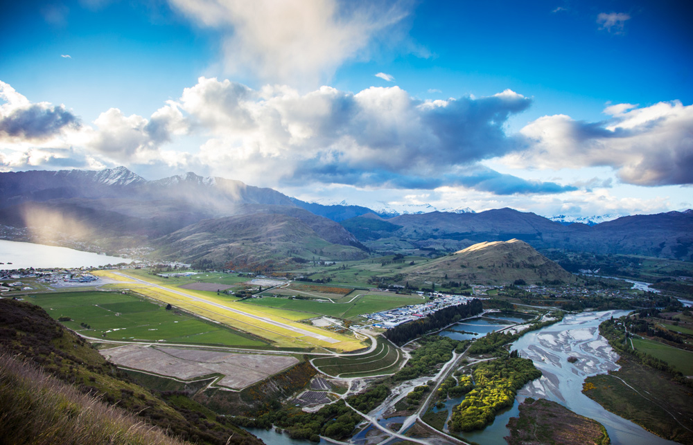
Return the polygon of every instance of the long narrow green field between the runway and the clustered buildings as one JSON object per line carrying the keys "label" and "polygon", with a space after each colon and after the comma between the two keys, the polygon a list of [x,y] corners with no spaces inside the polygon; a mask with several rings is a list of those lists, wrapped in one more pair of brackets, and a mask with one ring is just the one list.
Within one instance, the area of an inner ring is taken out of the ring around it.
{"label": "long narrow green field between the runway and the clustered buildings", "polygon": [[[353,296],[349,295],[349,298],[342,298],[343,300],[351,300]],[[262,306],[262,307],[273,307],[276,309],[284,309],[286,311],[299,311],[312,314],[313,316],[330,316],[337,318],[358,318],[363,314],[372,314],[379,311],[387,311],[388,309],[394,309],[395,307],[402,307],[407,305],[419,305],[426,300],[419,296],[397,296],[396,294],[390,295],[364,295],[354,299],[351,302],[325,302],[316,300],[293,300],[291,298],[252,298],[250,300],[244,300],[243,304]]]}

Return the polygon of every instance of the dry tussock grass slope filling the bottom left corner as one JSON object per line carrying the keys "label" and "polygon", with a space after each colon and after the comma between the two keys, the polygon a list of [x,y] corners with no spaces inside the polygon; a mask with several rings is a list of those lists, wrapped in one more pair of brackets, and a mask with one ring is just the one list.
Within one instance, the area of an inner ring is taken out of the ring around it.
{"label": "dry tussock grass slope filling the bottom left corner", "polygon": [[0,353],[1,444],[183,445],[155,426]]}

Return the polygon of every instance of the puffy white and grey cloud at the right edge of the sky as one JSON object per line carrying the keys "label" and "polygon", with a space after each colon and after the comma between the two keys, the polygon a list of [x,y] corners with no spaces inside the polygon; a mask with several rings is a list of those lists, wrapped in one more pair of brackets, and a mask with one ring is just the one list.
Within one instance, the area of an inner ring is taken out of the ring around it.
{"label": "puffy white and grey cloud at the right edge of the sky", "polygon": [[649,107],[611,105],[604,122],[565,115],[544,116],[520,130],[525,152],[509,154],[507,165],[561,169],[606,165],[626,183],[693,183],[693,105],[659,102]]}

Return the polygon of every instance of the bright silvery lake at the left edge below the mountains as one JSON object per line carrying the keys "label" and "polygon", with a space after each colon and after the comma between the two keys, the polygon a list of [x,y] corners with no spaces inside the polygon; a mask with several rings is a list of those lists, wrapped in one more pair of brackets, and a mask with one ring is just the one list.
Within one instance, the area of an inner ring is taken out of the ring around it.
{"label": "bright silvery lake at the left edge below the mountains", "polygon": [[[72,248],[46,246],[0,239],[0,270],[48,269],[51,267],[96,267],[104,264],[132,262],[130,258],[109,257],[93,252],[76,251]],[[12,263],[12,264],[8,264]]]}

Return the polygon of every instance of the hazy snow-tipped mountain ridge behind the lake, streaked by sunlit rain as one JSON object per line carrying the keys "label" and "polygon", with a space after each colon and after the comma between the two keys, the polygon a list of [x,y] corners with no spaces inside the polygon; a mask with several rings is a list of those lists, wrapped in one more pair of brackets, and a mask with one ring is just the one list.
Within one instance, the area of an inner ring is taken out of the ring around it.
{"label": "hazy snow-tipped mountain ridge behind the lake, streaked by sunlit rain", "polygon": [[281,256],[357,259],[368,250],[277,190],[192,172],[147,181],[125,167],[2,173],[0,224],[16,228],[12,239],[22,241],[109,253],[148,248],[217,265],[244,258],[251,268]]}

